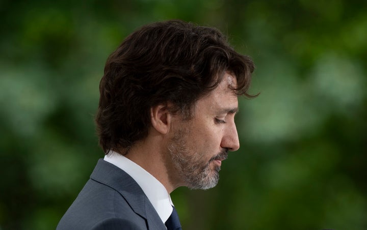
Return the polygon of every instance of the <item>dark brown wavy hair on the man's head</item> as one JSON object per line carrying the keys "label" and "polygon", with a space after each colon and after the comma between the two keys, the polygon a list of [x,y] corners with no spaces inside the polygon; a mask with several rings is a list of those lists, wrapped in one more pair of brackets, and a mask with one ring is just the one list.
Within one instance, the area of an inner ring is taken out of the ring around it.
{"label": "dark brown wavy hair on the man's head", "polygon": [[150,108],[170,102],[172,113],[191,118],[195,102],[213,91],[224,72],[237,78],[238,95],[248,94],[254,64],[227,43],[216,28],[179,20],[145,25],[108,58],[100,81],[96,115],[105,153],[127,151],[148,135]]}

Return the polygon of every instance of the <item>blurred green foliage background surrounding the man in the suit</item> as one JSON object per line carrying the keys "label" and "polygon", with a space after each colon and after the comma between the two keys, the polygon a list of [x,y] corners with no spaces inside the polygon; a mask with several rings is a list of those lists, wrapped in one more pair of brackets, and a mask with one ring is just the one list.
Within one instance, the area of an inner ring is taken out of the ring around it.
{"label": "blurred green foliage background surrounding the man in the suit", "polygon": [[0,229],[54,229],[103,153],[108,55],[137,27],[218,27],[253,57],[219,185],[172,193],[184,229],[367,229],[367,2],[0,1]]}

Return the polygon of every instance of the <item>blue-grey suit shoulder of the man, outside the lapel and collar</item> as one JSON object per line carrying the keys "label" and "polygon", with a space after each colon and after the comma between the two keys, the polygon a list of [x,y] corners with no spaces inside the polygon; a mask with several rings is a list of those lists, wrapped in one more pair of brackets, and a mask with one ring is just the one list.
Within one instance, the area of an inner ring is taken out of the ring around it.
{"label": "blue-grey suit shoulder of the man, outside the lapel and collar", "polygon": [[[121,227],[123,226],[123,227]],[[145,219],[109,186],[89,180],[57,229],[146,229]]]}

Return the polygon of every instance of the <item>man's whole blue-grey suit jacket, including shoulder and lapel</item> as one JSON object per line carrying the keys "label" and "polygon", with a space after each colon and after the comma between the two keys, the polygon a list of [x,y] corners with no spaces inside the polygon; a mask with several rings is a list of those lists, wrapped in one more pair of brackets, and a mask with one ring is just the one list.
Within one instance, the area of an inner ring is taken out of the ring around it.
{"label": "man's whole blue-grey suit jacket, including shoulder and lapel", "polygon": [[100,159],[56,229],[166,230],[166,226],[135,180]]}

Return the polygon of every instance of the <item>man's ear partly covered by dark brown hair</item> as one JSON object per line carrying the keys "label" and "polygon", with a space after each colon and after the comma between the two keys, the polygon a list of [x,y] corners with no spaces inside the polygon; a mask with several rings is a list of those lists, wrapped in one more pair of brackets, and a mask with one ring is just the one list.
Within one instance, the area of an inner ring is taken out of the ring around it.
{"label": "man's ear partly covered by dark brown hair", "polygon": [[150,108],[150,121],[156,131],[166,134],[169,131],[171,119],[172,115],[168,111],[167,104],[161,104]]}

